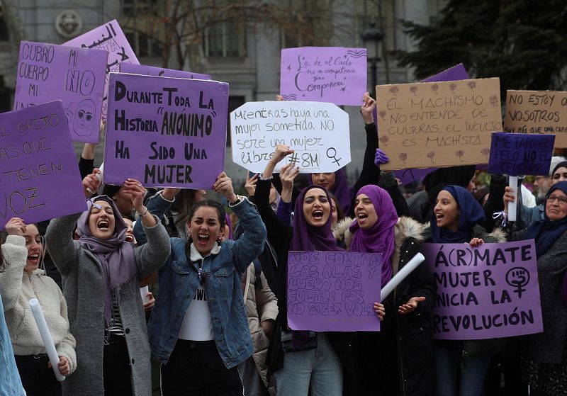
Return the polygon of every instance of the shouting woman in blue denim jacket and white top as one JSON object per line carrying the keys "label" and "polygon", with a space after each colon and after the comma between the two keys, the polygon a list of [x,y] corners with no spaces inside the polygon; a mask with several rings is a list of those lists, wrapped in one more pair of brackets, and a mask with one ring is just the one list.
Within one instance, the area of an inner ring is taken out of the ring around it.
{"label": "shouting woman in blue denim jacket and white top", "polygon": [[[225,211],[203,200],[191,210],[189,239],[170,239],[172,254],[159,269],[159,298],[148,324],[152,357],[162,363],[162,395],[242,395],[237,365],[253,351],[240,279],[262,252],[266,227],[224,172],[213,189],[246,231],[237,241],[220,242]],[[167,206],[164,198],[159,202]]]}

